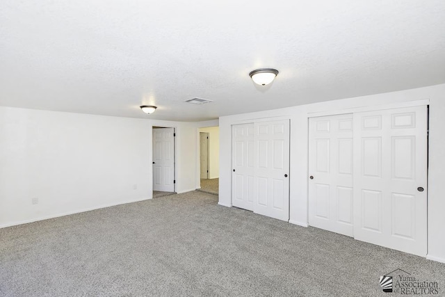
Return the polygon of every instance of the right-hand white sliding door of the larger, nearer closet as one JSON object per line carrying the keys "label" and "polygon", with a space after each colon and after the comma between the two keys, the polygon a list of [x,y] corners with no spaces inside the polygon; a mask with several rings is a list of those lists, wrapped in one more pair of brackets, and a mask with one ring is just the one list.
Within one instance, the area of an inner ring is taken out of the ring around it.
{"label": "right-hand white sliding door of the larger, nearer closet", "polygon": [[354,237],[426,256],[427,108],[354,114]]}

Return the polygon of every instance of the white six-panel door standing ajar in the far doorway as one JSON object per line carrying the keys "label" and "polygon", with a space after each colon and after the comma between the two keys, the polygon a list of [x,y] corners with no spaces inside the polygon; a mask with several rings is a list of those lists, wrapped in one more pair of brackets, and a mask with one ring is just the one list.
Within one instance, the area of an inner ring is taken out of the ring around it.
{"label": "white six-panel door standing ajar in the far doorway", "polygon": [[175,191],[175,129],[153,129],[153,190]]}

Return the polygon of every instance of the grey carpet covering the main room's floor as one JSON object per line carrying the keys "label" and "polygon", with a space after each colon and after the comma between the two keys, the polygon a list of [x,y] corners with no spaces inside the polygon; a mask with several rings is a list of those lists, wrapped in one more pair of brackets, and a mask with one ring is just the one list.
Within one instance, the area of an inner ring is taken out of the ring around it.
{"label": "grey carpet covering the main room's floor", "polygon": [[445,264],[217,199],[193,191],[0,229],[0,296],[389,296],[378,278],[396,268],[445,294]]}

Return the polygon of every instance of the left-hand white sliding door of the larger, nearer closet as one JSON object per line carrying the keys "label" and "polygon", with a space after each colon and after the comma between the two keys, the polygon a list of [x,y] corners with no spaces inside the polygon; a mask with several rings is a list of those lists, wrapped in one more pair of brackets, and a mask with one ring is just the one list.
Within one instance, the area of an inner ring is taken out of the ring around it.
{"label": "left-hand white sliding door of the larger, nearer closet", "polygon": [[353,236],[353,114],[309,118],[309,225]]}

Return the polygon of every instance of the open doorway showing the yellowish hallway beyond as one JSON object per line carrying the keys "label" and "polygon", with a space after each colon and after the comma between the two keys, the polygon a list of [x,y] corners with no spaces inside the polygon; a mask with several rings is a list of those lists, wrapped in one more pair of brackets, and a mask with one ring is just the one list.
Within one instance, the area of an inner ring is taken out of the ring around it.
{"label": "open doorway showing the yellowish hallway beyond", "polygon": [[218,195],[220,172],[220,128],[199,129],[200,191]]}

